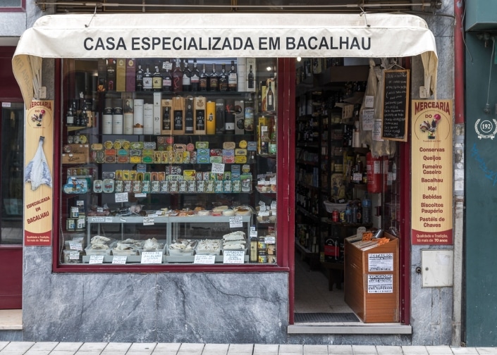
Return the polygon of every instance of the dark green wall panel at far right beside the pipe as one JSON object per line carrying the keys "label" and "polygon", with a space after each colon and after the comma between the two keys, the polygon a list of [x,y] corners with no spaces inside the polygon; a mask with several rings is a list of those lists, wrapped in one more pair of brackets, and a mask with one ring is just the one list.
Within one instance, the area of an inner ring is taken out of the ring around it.
{"label": "dark green wall panel at far right beside the pipe", "polygon": [[476,34],[467,34],[466,43],[466,343],[496,347],[497,137],[479,139],[475,123],[497,120],[497,65],[491,60],[492,41],[485,47]]}

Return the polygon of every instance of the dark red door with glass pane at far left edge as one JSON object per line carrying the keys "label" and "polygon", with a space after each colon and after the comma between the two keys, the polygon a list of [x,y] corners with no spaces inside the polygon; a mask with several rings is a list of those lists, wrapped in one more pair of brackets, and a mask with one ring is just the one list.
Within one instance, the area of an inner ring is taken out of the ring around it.
{"label": "dark red door with glass pane at far left edge", "polygon": [[0,310],[22,308],[24,104],[12,73],[15,50],[0,46]]}

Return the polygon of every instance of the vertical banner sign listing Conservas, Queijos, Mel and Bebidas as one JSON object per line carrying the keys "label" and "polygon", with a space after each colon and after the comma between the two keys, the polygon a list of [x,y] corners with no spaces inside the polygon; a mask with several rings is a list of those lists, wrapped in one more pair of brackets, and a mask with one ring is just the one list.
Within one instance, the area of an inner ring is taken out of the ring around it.
{"label": "vertical banner sign listing Conservas, Queijos, Mel and Bebidas", "polygon": [[412,244],[453,244],[452,100],[412,101]]}

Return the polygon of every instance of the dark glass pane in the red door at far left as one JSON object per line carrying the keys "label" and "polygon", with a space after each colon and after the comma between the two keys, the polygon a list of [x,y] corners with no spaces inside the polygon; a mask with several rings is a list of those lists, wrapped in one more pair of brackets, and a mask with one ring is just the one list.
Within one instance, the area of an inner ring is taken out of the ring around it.
{"label": "dark glass pane in the red door at far left", "polygon": [[23,104],[2,107],[0,244],[23,244],[23,118]]}

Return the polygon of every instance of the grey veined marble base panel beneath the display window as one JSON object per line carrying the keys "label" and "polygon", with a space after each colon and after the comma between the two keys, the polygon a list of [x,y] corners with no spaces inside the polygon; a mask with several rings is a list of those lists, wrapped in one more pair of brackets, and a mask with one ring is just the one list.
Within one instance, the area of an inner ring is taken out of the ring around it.
{"label": "grey veined marble base panel beneath the display window", "polygon": [[24,252],[24,340],[286,341],[287,273],[52,273],[50,248]]}

